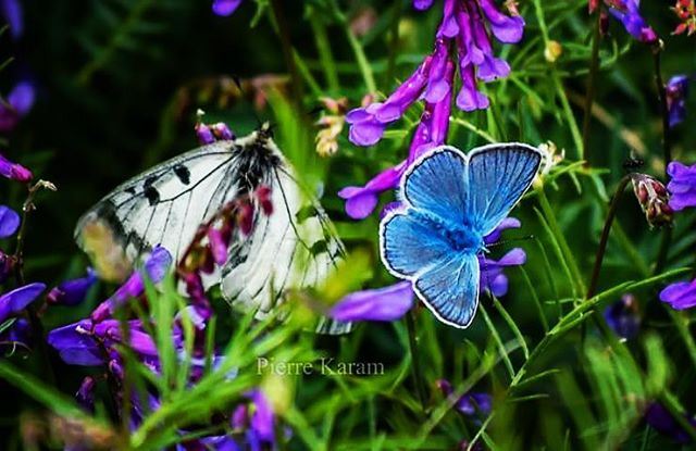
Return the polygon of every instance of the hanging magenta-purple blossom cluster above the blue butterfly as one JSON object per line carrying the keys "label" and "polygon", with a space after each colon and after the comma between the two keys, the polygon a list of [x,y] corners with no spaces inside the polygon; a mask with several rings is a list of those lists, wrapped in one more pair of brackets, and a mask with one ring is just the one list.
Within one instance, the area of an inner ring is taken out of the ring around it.
{"label": "hanging magenta-purple blossom cluster above the blue butterfly", "polygon": [[[419,10],[432,4],[432,0],[413,2]],[[378,195],[398,187],[401,175],[413,161],[425,151],[445,143],[455,72],[458,71],[461,78],[456,103],[463,111],[488,108],[489,100],[478,91],[477,83],[493,82],[510,73],[508,63],[495,57],[492,37],[505,43],[519,42],[524,30],[522,17],[514,12],[504,14],[493,0],[444,0],[443,12],[433,53],[383,102],[355,109],[346,115],[346,122],[350,124],[350,141],[358,146],[372,146],[382,139],[386,127],[398,121],[414,102],[421,99],[424,102],[407,160],[382,171],[363,187],[346,187],[338,192],[346,200],[346,213],[355,220],[370,215],[377,204]],[[456,49],[456,52],[450,49]]]}

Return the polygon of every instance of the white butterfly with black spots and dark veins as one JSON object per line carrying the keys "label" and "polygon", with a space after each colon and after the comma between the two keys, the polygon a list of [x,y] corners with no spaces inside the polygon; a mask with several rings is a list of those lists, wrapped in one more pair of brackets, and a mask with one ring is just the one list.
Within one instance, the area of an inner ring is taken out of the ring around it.
{"label": "white butterfly with black spots and dark veins", "polygon": [[[79,218],[75,239],[102,277],[122,279],[157,245],[178,261],[201,223],[260,185],[271,188],[273,214],[254,214],[251,233],[233,240],[227,263],[203,281],[221,283],[225,299],[258,309],[262,318],[287,289],[320,285],[345,254],[268,125],[194,149],[122,184]],[[350,324],[322,318],[316,330],[343,334]]]}

